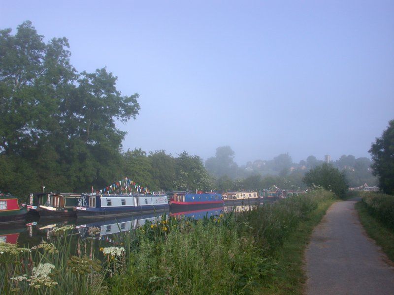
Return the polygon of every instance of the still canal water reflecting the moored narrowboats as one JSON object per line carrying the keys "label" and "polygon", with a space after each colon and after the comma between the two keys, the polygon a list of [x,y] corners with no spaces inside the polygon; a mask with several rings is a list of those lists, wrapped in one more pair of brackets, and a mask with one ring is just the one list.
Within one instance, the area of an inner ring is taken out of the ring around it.
{"label": "still canal water reflecting the moored narrowboats", "polygon": [[[260,205],[270,203],[274,199],[265,199]],[[245,204],[225,204],[224,206],[211,207],[208,209],[189,209],[187,211],[169,211],[166,216],[175,216],[182,218],[190,217],[193,219],[202,219],[204,216],[210,218],[211,216],[219,216],[224,212],[242,212],[253,210],[255,205]],[[30,217],[25,223],[14,223],[7,225],[0,225],[0,241],[18,244],[19,246],[32,247],[41,243],[41,241],[53,241],[56,239],[56,230],[63,226],[72,226],[71,235],[77,238],[86,238],[89,236],[89,229],[98,228],[99,240],[104,244],[113,244],[116,235],[121,232],[127,232],[144,225],[146,222],[156,222],[162,219],[163,212],[149,213],[149,214],[133,214],[116,217],[109,217],[107,219],[47,219],[39,217]]]}

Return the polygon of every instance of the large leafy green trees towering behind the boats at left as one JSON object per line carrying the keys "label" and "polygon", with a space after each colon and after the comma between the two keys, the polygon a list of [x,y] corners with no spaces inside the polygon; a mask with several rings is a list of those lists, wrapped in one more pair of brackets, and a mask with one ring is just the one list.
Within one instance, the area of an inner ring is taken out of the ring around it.
{"label": "large leafy green trees towering behind the boats at left", "polygon": [[11,33],[0,30],[0,155],[13,177],[0,189],[83,191],[120,177],[115,121],[136,117],[138,94],[122,95],[105,68],[78,73],[66,38],[45,43],[29,21]]}

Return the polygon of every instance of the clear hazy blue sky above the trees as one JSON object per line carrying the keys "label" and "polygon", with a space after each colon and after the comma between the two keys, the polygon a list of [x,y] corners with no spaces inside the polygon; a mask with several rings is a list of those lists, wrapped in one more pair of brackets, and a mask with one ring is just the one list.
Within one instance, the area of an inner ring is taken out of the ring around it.
{"label": "clear hazy blue sky above the trees", "polygon": [[71,63],[137,92],[123,148],[239,165],[288,152],[369,157],[394,119],[394,1],[0,0],[0,29],[25,20],[65,36]]}

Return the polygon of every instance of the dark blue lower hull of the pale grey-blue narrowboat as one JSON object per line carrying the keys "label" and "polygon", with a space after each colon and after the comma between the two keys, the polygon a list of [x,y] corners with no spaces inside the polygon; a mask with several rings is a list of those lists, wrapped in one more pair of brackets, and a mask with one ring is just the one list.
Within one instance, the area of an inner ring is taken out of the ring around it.
{"label": "dark blue lower hull of the pale grey-blue narrowboat", "polygon": [[106,218],[108,216],[141,214],[149,212],[160,212],[169,209],[168,204],[164,205],[146,205],[146,206],[129,206],[129,207],[101,207],[101,208],[81,208],[77,207],[76,213],[78,218]]}

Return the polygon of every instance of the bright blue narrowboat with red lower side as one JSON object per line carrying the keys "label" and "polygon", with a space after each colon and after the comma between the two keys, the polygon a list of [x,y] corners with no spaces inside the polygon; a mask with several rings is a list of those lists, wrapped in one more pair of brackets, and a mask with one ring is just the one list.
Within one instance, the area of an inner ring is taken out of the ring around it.
{"label": "bright blue narrowboat with red lower side", "polygon": [[185,210],[188,208],[212,208],[214,206],[223,206],[223,198],[218,193],[186,193],[176,192],[170,200],[171,210]]}

